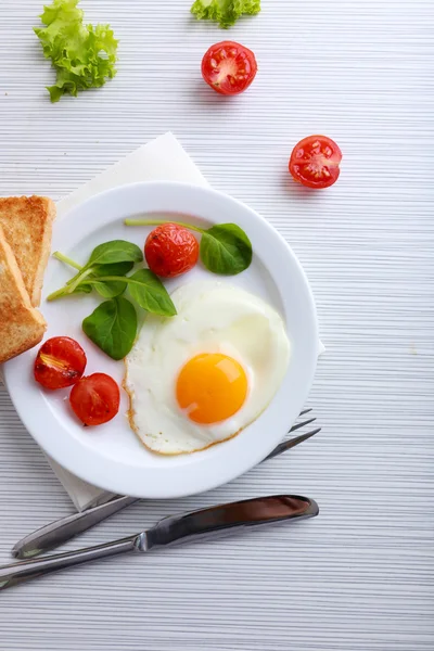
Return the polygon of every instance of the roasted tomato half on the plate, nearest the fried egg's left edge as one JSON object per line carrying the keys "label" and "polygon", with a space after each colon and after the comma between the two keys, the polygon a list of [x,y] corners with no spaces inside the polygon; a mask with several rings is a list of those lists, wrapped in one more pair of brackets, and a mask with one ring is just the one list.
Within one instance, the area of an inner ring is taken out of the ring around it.
{"label": "roasted tomato half on the plate, nearest the fried egg's left edge", "polygon": [[119,387],[110,375],[93,373],[77,382],[71,392],[69,403],[85,425],[101,425],[119,411]]}

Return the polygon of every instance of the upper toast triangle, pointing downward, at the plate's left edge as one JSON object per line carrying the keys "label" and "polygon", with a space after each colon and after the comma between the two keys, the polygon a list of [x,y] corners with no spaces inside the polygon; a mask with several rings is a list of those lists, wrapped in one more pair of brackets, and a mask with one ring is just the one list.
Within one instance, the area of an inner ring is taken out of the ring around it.
{"label": "upper toast triangle, pointing downward, at the plate's left edge", "polygon": [[39,305],[50,255],[55,204],[44,196],[0,199],[0,226],[21,269],[34,306]]}

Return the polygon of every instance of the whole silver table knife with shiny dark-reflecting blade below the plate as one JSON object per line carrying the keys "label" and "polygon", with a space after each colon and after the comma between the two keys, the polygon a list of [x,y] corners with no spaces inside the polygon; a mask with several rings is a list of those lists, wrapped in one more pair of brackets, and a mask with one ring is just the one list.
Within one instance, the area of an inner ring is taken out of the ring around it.
{"label": "whole silver table knife with shiny dark-reflecting blade below the plate", "polygon": [[146,552],[203,537],[214,538],[239,528],[272,522],[315,518],[318,513],[318,505],[312,499],[297,495],[273,495],[171,515],[150,529],[128,538],[2,566],[0,590],[98,559],[128,552]]}

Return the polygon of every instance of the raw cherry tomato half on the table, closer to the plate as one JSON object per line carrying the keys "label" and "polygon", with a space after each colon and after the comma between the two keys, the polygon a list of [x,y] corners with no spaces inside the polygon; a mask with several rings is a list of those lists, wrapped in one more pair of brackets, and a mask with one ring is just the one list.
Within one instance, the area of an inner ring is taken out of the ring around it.
{"label": "raw cherry tomato half on the table, closer to the plate", "polygon": [[329,188],[337,181],[342,152],[331,138],[309,136],[293,149],[290,173],[307,188]]}

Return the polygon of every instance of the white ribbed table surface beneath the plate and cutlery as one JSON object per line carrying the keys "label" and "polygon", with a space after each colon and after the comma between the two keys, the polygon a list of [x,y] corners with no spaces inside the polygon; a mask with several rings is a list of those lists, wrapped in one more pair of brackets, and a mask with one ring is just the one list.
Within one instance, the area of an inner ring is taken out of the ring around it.
{"label": "white ribbed table surface beneath the plate and cutlery", "polygon": [[[215,188],[291,242],[328,348],[309,399],[318,437],[213,493],[136,505],[80,544],[259,494],[306,494],[321,513],[2,592],[0,649],[432,651],[432,0],[263,0],[230,33],[190,20],[189,0],[82,0],[120,39],[119,72],[58,105],[31,31],[41,5],[0,7],[0,193],[59,199],[173,130]],[[204,51],[227,37],[259,62],[233,100],[200,76]],[[315,132],[344,153],[340,181],[318,193],[286,174],[294,143]],[[68,512],[1,387],[0,562]]]}

